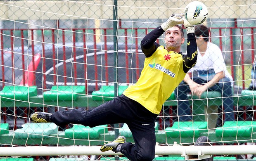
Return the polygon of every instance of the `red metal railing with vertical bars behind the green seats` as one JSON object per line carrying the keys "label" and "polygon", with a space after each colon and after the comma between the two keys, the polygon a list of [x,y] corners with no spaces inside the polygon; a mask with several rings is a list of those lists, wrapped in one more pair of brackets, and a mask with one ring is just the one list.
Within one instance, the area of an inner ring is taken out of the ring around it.
{"label": "red metal railing with vertical bars behind the green seats", "polygon": [[[134,42],[135,42],[135,50],[136,50],[136,53],[138,52],[138,49],[139,49],[139,42],[138,42],[138,29],[142,29],[142,30],[145,30],[145,33],[144,34],[147,34],[148,32],[149,32],[149,30],[152,30],[152,28],[120,28],[119,30],[123,30],[123,32],[124,32],[124,43],[125,43],[125,57],[126,57],[126,61],[125,61],[125,67],[126,67],[126,83],[130,83],[130,73],[129,73],[129,68],[130,68],[130,62],[128,61],[128,55],[130,54],[130,53],[128,53],[128,37],[130,36],[128,36],[128,33],[127,33],[127,31],[128,30],[132,30],[132,32],[134,33],[134,37],[133,37],[133,39],[134,39]],[[223,50],[223,38],[225,38],[225,36],[222,36],[223,35],[223,32],[222,32],[222,30],[224,30],[225,29],[225,31],[229,31],[229,42],[230,42],[230,44],[225,44],[226,46],[229,46],[230,47],[230,50],[229,51],[224,51],[224,52],[226,52],[226,53],[230,53],[230,66],[231,66],[231,74],[232,74],[232,77],[233,78],[235,78],[235,66],[236,65],[241,65],[241,68],[242,68],[242,73],[241,73],[241,76],[242,76],[242,80],[244,80],[245,79],[245,76],[244,76],[244,65],[246,64],[246,62],[248,62],[248,60],[247,59],[250,59],[250,63],[254,63],[254,29],[255,29],[255,27],[243,27],[243,28],[240,28],[240,27],[230,27],[230,28],[211,28],[211,31],[214,31],[214,30],[218,30],[218,39],[219,39],[219,46],[220,46],[220,49],[221,50]],[[250,36],[250,39],[251,39],[251,44],[250,44],[250,46],[251,46],[251,58],[246,58],[245,59],[245,57],[244,57],[244,52],[245,52],[245,50],[244,50],[244,36],[243,36],[243,32],[244,32],[244,30],[246,30],[246,29],[249,29],[250,30],[250,32],[251,32],[251,36]],[[28,32],[30,32],[31,33],[31,51],[32,51],[32,55],[34,56],[34,47],[35,47],[35,45],[34,45],[34,42],[36,41],[36,40],[34,40],[34,34],[35,34],[35,31],[41,31],[41,34],[42,35],[44,35],[44,32],[45,31],[48,31],[48,29],[30,29],[30,30],[28,30]],[[67,80],[66,80],[66,78],[68,77],[67,75],[66,75],[66,62],[64,61],[64,60],[66,60],[66,47],[65,47],[65,41],[66,41],[66,33],[65,33],[65,31],[66,30],[68,30],[67,28],[66,29],[61,29],[61,31],[62,31],[62,47],[63,47],[63,70],[64,70],[64,85],[66,85],[66,83],[67,83]],[[88,31],[88,30],[92,30],[92,33],[93,33],[93,40],[91,40],[92,42],[93,42],[93,50],[94,50],[94,61],[95,61],[95,66],[94,66],[94,68],[95,68],[95,71],[97,71],[98,69],[98,66],[97,66],[97,51],[99,51],[99,49],[97,49],[97,40],[96,40],[96,30],[98,30],[98,29],[96,29],[96,28],[92,28],[92,29],[86,29],[86,28],[73,28],[71,31],[72,31],[72,33],[73,33],[73,36],[72,36],[72,43],[73,43],[73,69],[74,69],[74,73],[73,73],[73,80],[74,80],[74,83],[75,84],[77,84],[77,73],[76,73],[76,69],[77,69],[77,67],[76,67],[76,33],[77,33],[77,31],[82,31],[84,34],[83,34],[83,42],[84,42],[84,69],[85,69],[85,71],[87,70],[87,66],[86,66],[86,59],[87,59],[87,57],[86,57],[86,52],[87,52],[87,49],[86,49],[86,33],[85,33],[85,31]],[[105,81],[108,83],[109,82],[109,80],[108,80],[108,78],[109,78],[109,76],[108,76],[108,55],[106,54],[107,53],[107,41],[108,41],[108,38],[107,38],[107,31],[108,30],[112,30],[111,28],[102,28],[101,30],[103,30],[103,43],[104,43],[104,52],[105,52],[105,54],[104,54],[104,64],[102,64],[102,65],[104,65],[104,68],[105,68],[105,70],[106,70],[106,72],[104,73],[104,76],[105,76]],[[233,33],[234,33],[234,30],[240,30],[240,33],[241,33],[241,36],[240,36],[240,38],[241,38],[241,43],[239,44],[239,46],[240,46],[240,57],[241,57],[241,60],[240,60],[240,62],[238,62],[238,63],[240,63],[240,64],[237,64],[237,62],[234,62],[234,54],[235,54],[235,48],[234,48],[234,40],[233,40],[233,38],[232,37],[234,37],[234,35],[233,35]],[[4,51],[5,51],[5,48],[4,48],[4,45],[5,45],[5,37],[3,36],[3,32],[4,31],[7,31],[6,29],[1,29],[0,30],[0,33],[1,33],[1,42],[0,42],[0,44],[1,44],[1,58],[2,58],[2,61],[1,61],[1,65],[2,65],[2,79],[3,80],[5,80],[5,75],[4,75],[4,71],[5,71],[5,69],[4,69],[4,66],[5,66],[5,60],[3,59],[3,55],[4,55]],[[25,43],[24,43],[24,40],[26,40],[24,37],[26,37],[26,36],[24,36],[24,31],[25,31],[25,29],[15,29],[15,32],[17,32],[17,31],[20,31],[20,33],[21,33],[21,35],[20,35],[20,38],[17,38],[17,36],[15,36],[15,40],[16,39],[20,39],[21,41],[21,44],[18,44],[18,46],[20,46],[21,47],[21,53],[24,53],[24,46],[25,46]],[[53,83],[54,84],[56,84],[57,83],[57,71],[56,71],[56,61],[57,61],[57,57],[56,57],[56,50],[55,50],[55,40],[56,40],[56,35],[55,35],[55,32],[56,32],[56,30],[55,29],[49,29],[49,31],[51,32],[51,43],[52,43],[52,64],[53,64],[53,75],[54,75],[54,80],[53,80]],[[59,30],[58,30],[59,31]],[[225,32],[225,33],[228,33],[228,32]],[[15,64],[15,62],[14,62],[14,46],[16,45],[17,46],[17,44],[16,44],[16,42],[14,42],[14,30],[13,29],[11,29],[11,30],[9,30],[9,39],[10,39],[10,48],[9,48],[9,51],[11,52],[11,54],[12,54],[12,57],[11,57],[11,59],[12,59],[12,73],[13,73],[13,75],[12,75],[12,83],[14,83],[14,78],[15,78],[15,75],[14,75],[14,69],[15,69],[15,67],[14,67],[14,64]],[[158,40],[159,41],[159,40]],[[42,48],[42,58],[43,58],[43,62],[45,62],[45,36],[42,36],[42,46],[43,46],[43,48]],[[34,60],[32,59],[32,62],[33,62]],[[24,61],[24,55],[22,55],[22,62],[25,62]],[[139,58],[138,58],[138,55],[137,54],[135,54],[135,62],[133,62],[133,63],[135,63],[135,67],[136,67],[136,69],[139,69]],[[25,67],[25,64],[22,64],[22,70],[23,70],[23,72],[25,72],[26,71],[26,67]],[[35,70],[35,69],[34,69]],[[45,66],[43,66],[43,73],[45,72]],[[139,75],[140,75],[140,72],[139,72],[139,70],[136,70],[136,78],[138,78],[139,77]],[[25,80],[25,78],[24,78],[24,76],[25,76],[25,74],[23,74],[23,80]],[[85,76],[84,76],[84,79],[85,79],[85,84],[87,85],[87,76],[88,76],[88,74],[85,72]],[[43,88],[46,88],[46,80],[47,80],[47,77],[44,75],[43,76]],[[99,78],[98,78],[98,75],[97,75],[97,73],[95,72],[95,88],[96,88],[96,90],[98,90],[98,81],[101,81]],[[25,81],[23,81],[23,82],[25,82]],[[5,82],[3,82],[3,85],[5,85]],[[243,82],[243,84],[242,84],[242,87],[243,88],[245,88],[245,84],[244,84],[244,82]]]}

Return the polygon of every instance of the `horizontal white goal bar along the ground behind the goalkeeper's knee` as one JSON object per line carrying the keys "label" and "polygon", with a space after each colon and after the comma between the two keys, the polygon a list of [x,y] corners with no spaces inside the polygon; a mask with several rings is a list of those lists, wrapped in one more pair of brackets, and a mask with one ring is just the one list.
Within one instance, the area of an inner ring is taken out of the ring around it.
{"label": "horizontal white goal bar along the ground behind the goalkeeper's knee", "polygon": [[[72,150],[71,150],[72,149]],[[156,155],[232,155],[256,154],[255,145],[223,146],[156,146]],[[0,147],[0,156],[64,156],[64,155],[123,155],[112,151],[101,152],[99,146],[88,147]]]}

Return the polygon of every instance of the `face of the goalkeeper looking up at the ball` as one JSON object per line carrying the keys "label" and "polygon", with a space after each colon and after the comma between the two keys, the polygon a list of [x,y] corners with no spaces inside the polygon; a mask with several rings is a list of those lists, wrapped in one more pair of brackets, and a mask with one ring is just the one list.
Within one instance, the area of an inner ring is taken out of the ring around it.
{"label": "face of the goalkeeper looking up at the ball", "polygon": [[185,38],[181,36],[180,29],[173,26],[166,30],[164,41],[166,50],[180,52],[180,47],[185,42]]}

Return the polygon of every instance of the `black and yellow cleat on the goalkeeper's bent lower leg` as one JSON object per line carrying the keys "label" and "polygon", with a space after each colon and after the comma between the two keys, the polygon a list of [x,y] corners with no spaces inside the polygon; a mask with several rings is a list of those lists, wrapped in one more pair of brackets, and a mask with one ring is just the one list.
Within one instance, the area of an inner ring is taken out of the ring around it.
{"label": "black and yellow cleat on the goalkeeper's bent lower leg", "polygon": [[120,147],[119,147],[119,149],[117,149],[117,147],[119,144],[123,144],[125,142],[126,142],[126,137],[119,136],[113,142],[109,142],[107,144],[102,145],[100,148],[100,151],[106,152],[108,150],[112,150],[114,152],[120,152]]}

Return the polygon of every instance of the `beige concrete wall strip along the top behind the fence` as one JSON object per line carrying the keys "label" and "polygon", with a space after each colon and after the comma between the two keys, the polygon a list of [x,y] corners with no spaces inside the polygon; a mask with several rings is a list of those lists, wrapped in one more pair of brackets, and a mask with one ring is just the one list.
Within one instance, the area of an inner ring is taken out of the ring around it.
{"label": "beige concrete wall strip along the top behind the fence", "polygon": [[[118,19],[166,19],[191,0],[118,0]],[[256,17],[254,0],[202,0],[209,18]],[[112,19],[112,0],[0,1],[0,19]]]}

